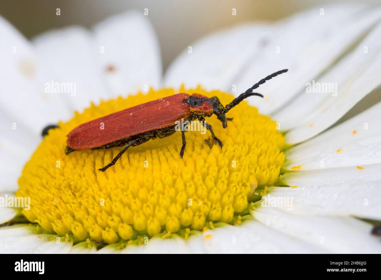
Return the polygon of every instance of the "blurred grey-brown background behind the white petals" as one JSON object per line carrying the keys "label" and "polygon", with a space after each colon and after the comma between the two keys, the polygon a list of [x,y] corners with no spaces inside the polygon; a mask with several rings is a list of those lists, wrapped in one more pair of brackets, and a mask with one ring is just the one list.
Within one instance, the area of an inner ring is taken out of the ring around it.
{"label": "blurred grey-brown background behind the white petals", "polygon": [[[157,33],[163,70],[192,42],[215,30],[252,21],[277,21],[325,3],[380,5],[380,0],[2,0],[0,14],[24,36],[32,38],[49,29],[69,25],[90,28],[94,23],[125,10],[149,9]],[[56,8],[61,16],[56,16]],[[231,16],[232,8],[237,16]],[[341,120],[381,101],[380,88],[369,94]]]}

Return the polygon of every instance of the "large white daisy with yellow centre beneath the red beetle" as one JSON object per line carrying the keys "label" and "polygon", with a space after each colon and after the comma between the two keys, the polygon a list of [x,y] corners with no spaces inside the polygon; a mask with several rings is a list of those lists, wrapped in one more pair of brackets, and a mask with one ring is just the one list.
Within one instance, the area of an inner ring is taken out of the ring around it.
{"label": "large white daisy with yellow centre beneath the red beetle", "polygon": [[[380,19],[325,5],[221,30],[163,77],[143,13],[31,42],[0,19],[0,252],[379,253],[381,103],[337,122],[381,83]],[[104,173],[120,148],[64,153],[84,122],[178,92],[227,104],[286,68],[226,129],[208,119],[222,149],[191,131],[180,158],[175,133]]]}

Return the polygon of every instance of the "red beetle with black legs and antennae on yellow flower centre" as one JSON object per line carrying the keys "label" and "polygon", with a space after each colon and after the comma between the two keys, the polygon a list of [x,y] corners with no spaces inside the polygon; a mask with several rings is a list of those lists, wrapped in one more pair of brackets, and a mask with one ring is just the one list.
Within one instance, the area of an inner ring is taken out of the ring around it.
{"label": "red beetle with black legs and antennae on yellow flower centre", "polygon": [[[138,146],[150,139],[164,138],[173,134],[176,131],[175,123],[182,119],[189,122],[197,119],[202,121],[203,126],[210,131],[212,138],[222,149],[221,140],[216,137],[211,125],[205,122],[205,117],[211,117],[215,114],[217,119],[222,122],[223,128],[226,128],[227,120],[231,120],[225,116],[229,110],[249,96],[263,97],[262,94],[253,93],[253,90],[267,80],[287,71],[288,69],[284,69],[268,75],[225,107],[217,97],[208,98],[198,93],[192,95],[178,93],[83,123],[67,135],[65,153],[69,154],[75,150],[124,146],[109,164],[99,169],[99,171],[104,172],[114,165],[129,147]],[[181,134],[180,157],[182,158],[186,141],[183,130]]]}

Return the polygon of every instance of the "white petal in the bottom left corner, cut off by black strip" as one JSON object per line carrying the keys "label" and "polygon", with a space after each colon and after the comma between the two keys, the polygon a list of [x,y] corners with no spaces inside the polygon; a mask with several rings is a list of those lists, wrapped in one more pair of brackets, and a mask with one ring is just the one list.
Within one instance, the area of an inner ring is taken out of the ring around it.
{"label": "white petal in the bottom left corner, cut off by black strip", "polygon": [[65,254],[73,246],[72,241],[58,242],[54,235],[34,234],[34,230],[35,226],[26,225],[0,227],[0,253]]}

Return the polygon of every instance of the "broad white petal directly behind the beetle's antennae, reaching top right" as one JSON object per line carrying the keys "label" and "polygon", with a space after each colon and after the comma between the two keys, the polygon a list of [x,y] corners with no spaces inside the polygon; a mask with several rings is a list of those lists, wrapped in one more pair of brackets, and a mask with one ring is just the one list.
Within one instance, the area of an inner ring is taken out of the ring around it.
{"label": "broad white petal directly behind the beetle's antennae, reaching top right", "polygon": [[248,99],[262,114],[274,114],[301,90],[305,90],[306,82],[327,70],[381,18],[379,11],[365,11],[358,5],[326,6],[324,15],[320,14],[320,8],[314,7],[280,21],[265,50],[234,82],[239,85],[237,93],[241,93],[260,78],[276,70],[289,69],[287,74],[268,81],[256,90],[265,98]]}

